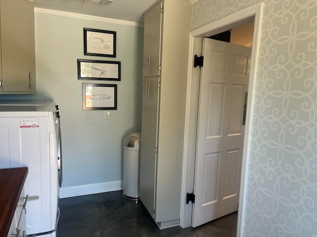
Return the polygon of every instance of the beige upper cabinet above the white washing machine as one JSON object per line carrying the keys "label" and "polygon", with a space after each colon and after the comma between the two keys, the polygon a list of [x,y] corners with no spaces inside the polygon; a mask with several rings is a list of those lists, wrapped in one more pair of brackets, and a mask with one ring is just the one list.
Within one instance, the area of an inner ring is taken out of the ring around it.
{"label": "beige upper cabinet above the white washing machine", "polygon": [[34,6],[0,0],[0,94],[34,94]]}

